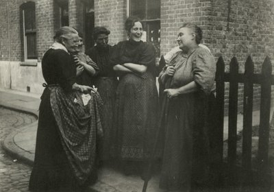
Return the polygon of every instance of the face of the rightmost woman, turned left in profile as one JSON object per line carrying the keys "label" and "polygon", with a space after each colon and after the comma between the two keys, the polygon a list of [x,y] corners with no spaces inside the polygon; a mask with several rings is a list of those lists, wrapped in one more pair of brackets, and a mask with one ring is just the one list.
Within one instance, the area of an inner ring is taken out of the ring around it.
{"label": "face of the rightmost woman, turned left in profile", "polygon": [[182,27],[178,31],[177,43],[179,48],[187,51],[192,45],[195,45],[195,33],[188,27]]}

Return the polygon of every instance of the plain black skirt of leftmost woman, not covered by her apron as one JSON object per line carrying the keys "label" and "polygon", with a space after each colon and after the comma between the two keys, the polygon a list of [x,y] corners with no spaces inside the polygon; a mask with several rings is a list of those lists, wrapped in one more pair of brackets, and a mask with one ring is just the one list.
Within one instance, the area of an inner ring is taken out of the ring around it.
{"label": "plain black skirt of leftmost woman, not covered by her apron", "polygon": [[[66,157],[58,126],[51,110],[49,89],[40,103],[34,167],[29,179],[31,191],[82,191]],[[92,180],[92,178],[91,178]]]}

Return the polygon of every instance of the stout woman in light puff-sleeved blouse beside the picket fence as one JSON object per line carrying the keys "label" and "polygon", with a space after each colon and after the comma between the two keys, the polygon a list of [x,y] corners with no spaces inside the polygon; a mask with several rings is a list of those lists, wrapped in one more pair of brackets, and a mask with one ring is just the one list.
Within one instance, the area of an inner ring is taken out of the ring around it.
{"label": "stout woman in light puff-sleeved blouse beside the picket fence", "polygon": [[206,110],[214,85],[216,65],[207,49],[199,47],[202,32],[186,23],[179,28],[178,51],[159,76],[164,86],[162,126],[165,144],[160,188],[190,191],[208,172]]}

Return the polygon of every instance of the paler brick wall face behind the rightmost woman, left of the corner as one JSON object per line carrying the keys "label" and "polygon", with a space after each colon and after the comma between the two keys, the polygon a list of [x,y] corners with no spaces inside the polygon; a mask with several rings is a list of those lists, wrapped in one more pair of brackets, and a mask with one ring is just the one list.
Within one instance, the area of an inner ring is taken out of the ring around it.
{"label": "paler brick wall face behind the rightmost woman, left of the corner", "polygon": [[[161,54],[177,46],[177,31],[182,23],[194,22],[205,34],[212,28],[212,2],[204,0],[161,1]],[[208,38],[205,36],[205,38]]]}

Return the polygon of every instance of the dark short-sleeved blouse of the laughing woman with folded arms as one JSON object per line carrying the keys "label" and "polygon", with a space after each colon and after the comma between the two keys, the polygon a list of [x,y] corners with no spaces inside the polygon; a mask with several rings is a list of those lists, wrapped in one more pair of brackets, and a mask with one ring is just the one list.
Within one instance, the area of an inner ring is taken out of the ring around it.
{"label": "dark short-sleeved blouse of the laughing woman with folded arms", "polygon": [[112,65],[132,62],[147,66],[147,73],[156,74],[155,49],[147,42],[125,40],[119,42],[110,57]]}

